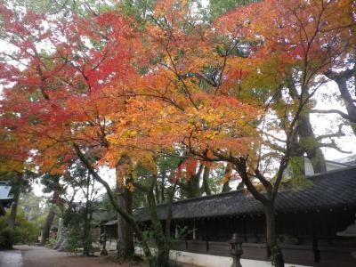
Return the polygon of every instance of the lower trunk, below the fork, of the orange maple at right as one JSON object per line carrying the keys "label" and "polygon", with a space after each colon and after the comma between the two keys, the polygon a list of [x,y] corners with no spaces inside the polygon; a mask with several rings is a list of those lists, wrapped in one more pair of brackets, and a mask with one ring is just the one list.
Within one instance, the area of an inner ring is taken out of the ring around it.
{"label": "lower trunk, below the fork, of the orange maple at right", "polygon": [[284,266],[284,259],[277,241],[273,202],[264,205],[264,214],[266,217],[267,256],[271,259],[274,266],[282,267]]}

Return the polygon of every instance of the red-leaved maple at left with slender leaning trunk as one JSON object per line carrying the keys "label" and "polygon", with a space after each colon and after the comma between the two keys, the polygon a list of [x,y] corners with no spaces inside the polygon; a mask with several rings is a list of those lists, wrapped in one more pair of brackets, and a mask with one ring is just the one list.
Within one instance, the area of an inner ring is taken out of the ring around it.
{"label": "red-leaved maple at left with slender leaning trunk", "polygon": [[[124,107],[125,98],[109,88],[115,80],[115,88],[125,90],[125,82],[134,79],[127,64],[134,54],[134,37],[124,17],[109,12],[56,20],[34,12],[15,13],[2,5],[2,19],[3,39],[14,50],[2,53],[4,85],[11,87],[4,89],[2,113],[12,115],[2,124],[22,138],[12,146],[25,151],[22,160],[30,157],[40,172],[63,174],[77,157],[94,172],[93,158],[101,158],[114,116]],[[117,97],[110,98],[113,95]],[[91,159],[84,157],[84,148]],[[109,184],[98,174],[94,178],[142,239],[132,215],[117,206]],[[147,245],[143,248],[150,255]]]}

